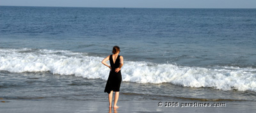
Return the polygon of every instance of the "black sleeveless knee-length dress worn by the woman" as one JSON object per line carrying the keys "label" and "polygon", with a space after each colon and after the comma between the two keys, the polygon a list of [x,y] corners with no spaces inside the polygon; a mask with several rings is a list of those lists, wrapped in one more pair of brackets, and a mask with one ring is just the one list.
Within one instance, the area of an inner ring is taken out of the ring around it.
{"label": "black sleeveless knee-length dress worn by the woman", "polygon": [[116,57],[116,61],[114,63],[112,55],[110,55],[109,62],[111,71],[109,72],[108,81],[104,90],[104,92],[107,93],[110,93],[111,91],[119,91],[122,81],[121,70],[117,73],[115,72],[115,69],[120,66],[120,56]]}

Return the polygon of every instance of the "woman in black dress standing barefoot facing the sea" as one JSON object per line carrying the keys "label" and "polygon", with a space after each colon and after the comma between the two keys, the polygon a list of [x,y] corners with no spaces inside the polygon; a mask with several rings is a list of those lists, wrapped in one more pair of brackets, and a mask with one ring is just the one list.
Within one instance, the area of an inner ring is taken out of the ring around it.
{"label": "woman in black dress standing barefoot facing the sea", "polygon": [[[113,91],[115,91],[114,108],[116,109],[118,108],[116,103],[118,100],[120,84],[122,81],[121,68],[124,64],[124,58],[122,56],[118,56],[120,53],[120,48],[118,46],[113,47],[112,53],[112,55],[109,55],[103,59],[101,63],[110,68],[109,77],[104,92],[108,93],[109,108],[111,108]],[[106,63],[108,60],[110,66]]]}

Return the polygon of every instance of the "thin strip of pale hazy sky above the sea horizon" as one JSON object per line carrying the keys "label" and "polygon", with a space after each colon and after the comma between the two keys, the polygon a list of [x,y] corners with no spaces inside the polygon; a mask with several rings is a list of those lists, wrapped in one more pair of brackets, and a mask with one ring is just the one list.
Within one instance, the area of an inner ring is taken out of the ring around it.
{"label": "thin strip of pale hazy sky above the sea horizon", "polygon": [[0,6],[256,8],[256,0],[0,0]]}

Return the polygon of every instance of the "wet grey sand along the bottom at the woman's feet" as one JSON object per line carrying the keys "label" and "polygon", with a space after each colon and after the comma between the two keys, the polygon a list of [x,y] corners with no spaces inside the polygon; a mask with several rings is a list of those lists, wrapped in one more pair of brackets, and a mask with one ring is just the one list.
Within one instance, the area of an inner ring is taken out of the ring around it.
{"label": "wet grey sand along the bottom at the woman's feet", "polygon": [[[0,112],[255,112],[256,102],[218,102],[225,107],[181,107],[182,103],[191,101],[179,100],[179,107],[158,107],[157,100],[118,101],[118,109],[109,109],[107,101],[93,100],[0,100]],[[215,102],[198,102],[215,103]]]}

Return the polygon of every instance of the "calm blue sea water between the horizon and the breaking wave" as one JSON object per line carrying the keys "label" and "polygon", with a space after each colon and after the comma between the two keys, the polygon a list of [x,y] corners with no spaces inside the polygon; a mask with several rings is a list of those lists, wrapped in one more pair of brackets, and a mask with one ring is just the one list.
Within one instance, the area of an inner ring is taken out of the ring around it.
{"label": "calm blue sea water between the horizon and the breaking wave", "polygon": [[106,56],[120,45],[129,60],[184,66],[255,67],[255,29],[254,9],[1,6],[2,48]]}

